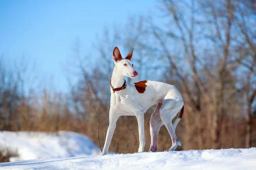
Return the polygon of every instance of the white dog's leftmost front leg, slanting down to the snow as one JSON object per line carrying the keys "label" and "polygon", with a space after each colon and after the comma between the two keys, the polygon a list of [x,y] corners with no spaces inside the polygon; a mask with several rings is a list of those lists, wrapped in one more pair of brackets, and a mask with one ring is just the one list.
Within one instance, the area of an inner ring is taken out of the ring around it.
{"label": "white dog's leftmost front leg, slanting down to the snow", "polygon": [[110,108],[109,110],[109,125],[108,125],[108,131],[106,135],[105,144],[102,150],[102,155],[107,155],[108,148],[114,133],[114,130],[116,128],[116,121],[118,119],[119,115],[113,112],[113,109]]}

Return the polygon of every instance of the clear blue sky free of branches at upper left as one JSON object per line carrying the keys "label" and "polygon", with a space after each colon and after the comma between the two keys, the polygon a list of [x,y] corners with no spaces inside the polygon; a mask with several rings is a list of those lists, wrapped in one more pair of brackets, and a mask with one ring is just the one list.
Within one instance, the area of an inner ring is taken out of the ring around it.
{"label": "clear blue sky free of branches at upper left", "polygon": [[[43,86],[67,91],[64,67],[79,37],[82,51],[91,50],[96,34],[128,17],[156,10],[154,0],[1,0],[0,54],[35,68]],[[110,54],[111,55],[111,54]],[[72,79],[71,79],[72,81]],[[42,85],[42,84],[41,84]]]}

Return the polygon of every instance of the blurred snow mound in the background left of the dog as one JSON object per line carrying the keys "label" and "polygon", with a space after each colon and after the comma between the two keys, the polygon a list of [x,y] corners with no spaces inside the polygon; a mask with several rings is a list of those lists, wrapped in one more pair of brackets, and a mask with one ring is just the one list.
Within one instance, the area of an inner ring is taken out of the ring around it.
{"label": "blurred snow mound in the background left of the dog", "polygon": [[0,150],[17,154],[10,161],[89,156],[101,153],[87,136],[79,133],[59,131],[43,132],[0,132]]}

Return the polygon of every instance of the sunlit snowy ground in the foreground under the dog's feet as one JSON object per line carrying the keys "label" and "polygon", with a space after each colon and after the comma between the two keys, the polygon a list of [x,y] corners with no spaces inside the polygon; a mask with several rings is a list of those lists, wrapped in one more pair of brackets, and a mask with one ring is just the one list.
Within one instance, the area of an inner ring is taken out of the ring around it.
{"label": "sunlit snowy ground in the foreground under the dog's feet", "polygon": [[256,170],[256,148],[77,156],[1,163],[12,170]]}

